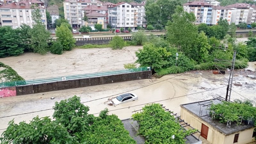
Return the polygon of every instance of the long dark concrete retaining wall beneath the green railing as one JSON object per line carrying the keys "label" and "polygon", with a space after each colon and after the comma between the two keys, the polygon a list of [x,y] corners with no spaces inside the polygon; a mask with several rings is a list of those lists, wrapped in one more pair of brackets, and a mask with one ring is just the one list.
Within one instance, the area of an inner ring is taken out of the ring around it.
{"label": "long dark concrete retaining wall beneath the green railing", "polygon": [[[152,71],[142,71],[142,72],[133,72],[126,74],[117,74],[117,75],[109,75],[109,76],[100,76],[100,77],[90,77],[84,79],[75,79],[75,80],[67,80],[67,81],[59,81],[45,84],[35,84],[35,85],[23,85],[16,86],[15,95],[26,95],[33,93],[41,93],[41,92],[52,92],[101,84],[111,84],[111,83],[119,83],[126,82],[132,80],[140,80],[140,79],[150,79],[152,78]],[[11,89],[15,90],[15,87]],[[6,88],[3,88],[6,89]],[[7,88],[10,89],[10,88]],[[0,88],[0,90],[2,90]],[[1,92],[1,91],[0,91]],[[1,94],[0,94],[1,95]],[[5,96],[14,96],[13,95],[3,95]]]}

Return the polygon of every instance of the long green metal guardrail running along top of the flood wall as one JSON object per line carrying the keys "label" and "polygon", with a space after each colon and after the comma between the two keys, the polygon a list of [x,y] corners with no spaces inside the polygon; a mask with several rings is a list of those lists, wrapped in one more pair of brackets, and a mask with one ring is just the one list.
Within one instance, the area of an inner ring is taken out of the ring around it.
{"label": "long green metal guardrail running along top of the flood wall", "polygon": [[32,84],[43,84],[43,83],[58,82],[58,81],[64,81],[64,80],[80,79],[80,78],[86,78],[86,77],[106,76],[106,75],[114,75],[114,74],[122,74],[122,73],[132,73],[132,72],[148,71],[148,70],[151,70],[151,67],[124,69],[124,70],[107,71],[107,72],[82,74],[82,75],[73,75],[73,76],[52,77],[52,78],[45,78],[45,79],[4,82],[4,83],[0,83],[0,87],[9,87],[9,86],[18,86],[18,85],[32,85]]}

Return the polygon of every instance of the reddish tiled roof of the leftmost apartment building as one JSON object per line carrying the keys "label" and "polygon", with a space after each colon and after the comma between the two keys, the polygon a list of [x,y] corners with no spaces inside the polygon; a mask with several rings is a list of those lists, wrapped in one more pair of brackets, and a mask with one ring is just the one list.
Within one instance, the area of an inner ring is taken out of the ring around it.
{"label": "reddish tiled roof of the leftmost apartment building", "polygon": [[[7,5],[3,5],[1,6],[1,8],[10,8],[10,9],[31,9],[31,4],[30,3],[34,3],[36,2],[37,0],[23,0],[23,1],[20,1],[18,3],[11,3],[11,4],[7,4]],[[39,2],[39,1],[38,1]],[[42,3],[42,2],[40,2]],[[25,4],[25,6],[20,6],[20,4]],[[40,9],[45,9],[44,6],[38,6]]]}

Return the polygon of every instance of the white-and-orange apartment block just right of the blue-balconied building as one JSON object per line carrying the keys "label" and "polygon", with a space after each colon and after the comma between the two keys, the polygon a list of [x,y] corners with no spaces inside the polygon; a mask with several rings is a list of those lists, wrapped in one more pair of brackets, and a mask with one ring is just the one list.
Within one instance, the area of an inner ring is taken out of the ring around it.
{"label": "white-and-orange apartment block just right of the blue-balconied building", "polygon": [[217,25],[220,18],[227,19],[228,24],[231,22],[232,9],[225,6],[212,6],[212,21],[211,25]]}

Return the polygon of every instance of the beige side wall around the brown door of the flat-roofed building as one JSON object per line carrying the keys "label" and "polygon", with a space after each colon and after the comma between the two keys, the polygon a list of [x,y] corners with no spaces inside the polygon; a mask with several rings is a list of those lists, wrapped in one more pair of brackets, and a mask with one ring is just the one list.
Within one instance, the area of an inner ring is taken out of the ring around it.
{"label": "beige side wall around the brown door of the flat-roofed building", "polygon": [[202,123],[207,127],[209,127],[207,141],[211,142],[212,144],[227,144],[227,143],[224,143],[225,136],[221,132],[211,127],[211,125],[203,122],[202,119],[198,118],[197,116],[194,116],[191,112],[187,111],[185,108],[181,107],[180,118],[184,119],[186,123],[190,124],[195,129],[198,129],[200,132],[201,132]]}

